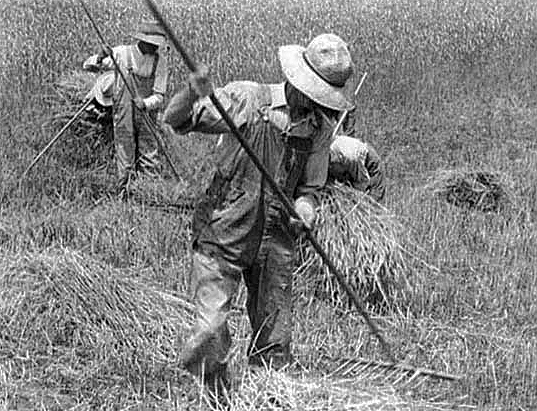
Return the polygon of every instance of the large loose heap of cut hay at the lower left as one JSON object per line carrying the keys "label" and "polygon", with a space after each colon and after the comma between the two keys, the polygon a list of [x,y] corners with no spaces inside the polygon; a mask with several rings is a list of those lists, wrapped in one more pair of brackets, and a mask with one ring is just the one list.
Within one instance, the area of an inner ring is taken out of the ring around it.
{"label": "large loose heap of cut hay at the lower left", "polygon": [[157,373],[177,361],[192,312],[183,298],[67,249],[0,260],[3,357],[14,367],[28,359],[53,384]]}

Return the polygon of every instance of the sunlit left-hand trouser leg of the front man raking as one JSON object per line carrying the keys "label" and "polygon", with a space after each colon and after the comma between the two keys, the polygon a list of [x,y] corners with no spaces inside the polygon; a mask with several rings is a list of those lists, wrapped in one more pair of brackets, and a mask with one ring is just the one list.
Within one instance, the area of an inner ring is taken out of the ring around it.
{"label": "sunlit left-hand trouser leg of the front man raking", "polygon": [[225,371],[231,346],[227,317],[241,270],[223,259],[195,250],[193,273],[198,319],[192,337],[185,344],[182,361],[192,374],[204,376],[210,383]]}

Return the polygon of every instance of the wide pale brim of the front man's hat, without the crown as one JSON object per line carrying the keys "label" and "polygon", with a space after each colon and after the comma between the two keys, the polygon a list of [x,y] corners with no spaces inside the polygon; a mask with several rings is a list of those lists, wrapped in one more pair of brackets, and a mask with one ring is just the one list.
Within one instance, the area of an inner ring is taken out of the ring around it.
{"label": "wide pale brim of the front man's hat, without the crown", "polygon": [[349,83],[344,87],[336,87],[323,80],[304,60],[306,49],[299,45],[281,46],[278,57],[283,74],[295,88],[323,107],[332,110],[352,110],[354,105],[349,101]]}

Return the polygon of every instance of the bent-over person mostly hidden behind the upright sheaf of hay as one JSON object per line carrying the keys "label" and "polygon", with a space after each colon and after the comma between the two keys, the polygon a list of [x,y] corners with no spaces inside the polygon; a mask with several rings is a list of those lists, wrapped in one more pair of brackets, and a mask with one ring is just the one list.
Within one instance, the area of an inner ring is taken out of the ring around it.
{"label": "bent-over person mostly hidden behind the upright sheaf of hay", "polygon": [[384,168],[375,149],[354,137],[337,135],[330,144],[329,180],[348,182],[382,202],[386,193]]}

